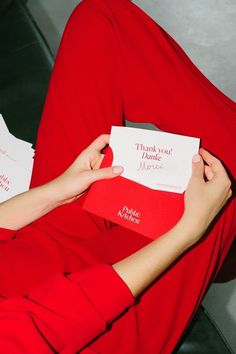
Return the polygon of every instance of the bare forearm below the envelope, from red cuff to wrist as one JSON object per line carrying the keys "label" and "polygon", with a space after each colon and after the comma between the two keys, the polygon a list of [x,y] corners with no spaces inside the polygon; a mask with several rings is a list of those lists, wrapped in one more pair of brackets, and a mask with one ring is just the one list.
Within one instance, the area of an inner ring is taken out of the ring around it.
{"label": "bare forearm below the envelope, from red cuff to wrist", "polygon": [[139,295],[198,239],[182,218],[169,232],[113,265],[134,296]]}

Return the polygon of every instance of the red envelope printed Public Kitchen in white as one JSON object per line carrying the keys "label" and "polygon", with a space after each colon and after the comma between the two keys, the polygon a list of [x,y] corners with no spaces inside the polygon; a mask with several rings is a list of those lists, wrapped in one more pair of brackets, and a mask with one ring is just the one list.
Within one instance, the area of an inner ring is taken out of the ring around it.
{"label": "red envelope printed Public Kitchen in white", "polygon": [[[109,147],[101,167],[111,166],[112,160]],[[184,194],[154,190],[118,176],[93,183],[82,208],[156,239],[182,216]]]}

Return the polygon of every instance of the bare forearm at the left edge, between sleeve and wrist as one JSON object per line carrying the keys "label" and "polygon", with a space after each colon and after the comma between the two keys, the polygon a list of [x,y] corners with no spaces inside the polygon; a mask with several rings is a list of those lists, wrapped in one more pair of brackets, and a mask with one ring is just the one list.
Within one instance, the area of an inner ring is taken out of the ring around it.
{"label": "bare forearm at the left edge, between sleeve and wrist", "polygon": [[52,183],[0,203],[0,227],[18,230],[60,205]]}

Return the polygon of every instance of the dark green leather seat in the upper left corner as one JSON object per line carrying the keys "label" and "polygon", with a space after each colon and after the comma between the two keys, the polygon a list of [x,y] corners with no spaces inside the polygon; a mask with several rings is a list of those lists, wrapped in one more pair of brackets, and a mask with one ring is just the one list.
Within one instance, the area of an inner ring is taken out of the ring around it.
{"label": "dark green leather seat in the upper left corner", "polygon": [[25,1],[5,0],[0,45],[0,113],[14,135],[35,143],[54,60]]}

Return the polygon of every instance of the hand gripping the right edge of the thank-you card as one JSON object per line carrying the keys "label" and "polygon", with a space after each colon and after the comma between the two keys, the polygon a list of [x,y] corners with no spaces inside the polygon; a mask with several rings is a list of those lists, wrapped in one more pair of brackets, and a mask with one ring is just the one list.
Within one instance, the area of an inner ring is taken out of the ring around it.
{"label": "hand gripping the right edge of the thank-you card", "polygon": [[222,163],[201,148],[199,155],[193,158],[183,214],[197,238],[203,235],[231,195],[231,181]]}

